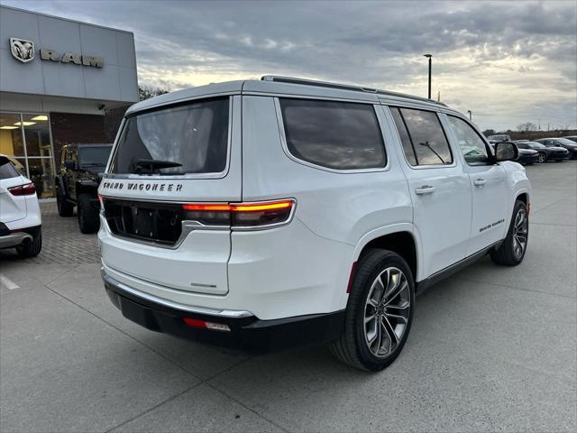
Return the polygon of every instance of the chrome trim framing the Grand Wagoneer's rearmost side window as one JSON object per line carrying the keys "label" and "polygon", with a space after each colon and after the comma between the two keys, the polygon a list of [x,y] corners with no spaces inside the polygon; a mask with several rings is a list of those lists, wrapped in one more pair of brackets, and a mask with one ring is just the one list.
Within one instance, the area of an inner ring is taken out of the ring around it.
{"label": "chrome trim framing the Grand Wagoneer's rearmost side window", "polygon": [[[285,95],[283,97],[286,98],[293,98],[290,95]],[[331,102],[349,102],[349,103],[354,103],[351,100],[341,100],[338,101],[336,99],[327,99],[325,97],[300,97],[301,99],[314,99],[314,100],[324,100],[324,101],[331,101]],[[364,104],[368,104],[372,106],[375,118],[377,119],[377,124],[379,125],[379,131],[380,131],[380,137],[382,139],[382,147],[383,147],[383,151],[385,152],[385,158],[387,163],[385,164],[384,167],[375,167],[375,168],[370,168],[370,169],[331,169],[329,167],[325,167],[323,165],[318,165],[315,164],[313,162],[309,162],[309,161],[305,161],[305,160],[301,160],[300,158],[297,158],[295,155],[293,155],[290,151],[289,151],[289,145],[287,143],[287,134],[285,133],[285,124],[284,121],[282,119],[282,111],[280,110],[280,102],[279,102],[279,97],[274,97],[274,107],[275,107],[275,112],[277,114],[277,124],[279,126],[279,137],[280,137],[280,143],[282,145],[282,151],[289,157],[290,160],[297,162],[298,164],[301,165],[305,165],[307,167],[316,169],[316,170],[323,170],[323,171],[328,171],[331,173],[338,173],[338,174],[355,174],[355,173],[372,173],[372,172],[379,172],[379,171],[387,171],[390,169],[390,158],[389,158],[389,153],[387,152],[387,145],[385,143],[385,134],[383,132],[383,125],[380,123],[380,119],[379,119],[379,115],[377,113],[377,110],[375,109],[375,106],[378,105],[375,102],[364,102]]]}

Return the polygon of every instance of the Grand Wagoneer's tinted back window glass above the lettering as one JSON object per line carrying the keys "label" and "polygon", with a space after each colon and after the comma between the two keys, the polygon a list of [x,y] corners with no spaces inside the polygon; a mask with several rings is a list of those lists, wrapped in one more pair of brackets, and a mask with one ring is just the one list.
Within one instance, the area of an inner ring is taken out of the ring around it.
{"label": "Grand Wagoneer's tinted back window glass above the lettering", "polygon": [[118,139],[111,173],[135,173],[147,164],[178,166],[160,174],[219,173],[228,154],[229,98],[193,102],[129,116]]}

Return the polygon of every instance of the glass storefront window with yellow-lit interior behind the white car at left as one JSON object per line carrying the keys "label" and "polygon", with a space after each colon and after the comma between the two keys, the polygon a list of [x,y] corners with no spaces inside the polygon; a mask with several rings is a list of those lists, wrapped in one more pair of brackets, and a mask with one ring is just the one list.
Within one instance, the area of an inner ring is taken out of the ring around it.
{"label": "glass storefront window with yellow-lit interior behind the white car at left", "polygon": [[54,197],[54,159],[49,116],[0,113],[0,153],[32,180],[38,198]]}

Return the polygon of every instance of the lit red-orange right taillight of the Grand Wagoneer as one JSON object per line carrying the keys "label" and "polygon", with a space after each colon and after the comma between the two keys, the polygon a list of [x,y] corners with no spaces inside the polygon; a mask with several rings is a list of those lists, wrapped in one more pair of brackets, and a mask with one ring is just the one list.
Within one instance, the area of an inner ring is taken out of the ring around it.
{"label": "lit red-orange right taillight of the Grand Wagoneer", "polygon": [[285,223],[295,207],[295,200],[257,203],[190,203],[182,205],[185,219],[208,226],[262,227]]}

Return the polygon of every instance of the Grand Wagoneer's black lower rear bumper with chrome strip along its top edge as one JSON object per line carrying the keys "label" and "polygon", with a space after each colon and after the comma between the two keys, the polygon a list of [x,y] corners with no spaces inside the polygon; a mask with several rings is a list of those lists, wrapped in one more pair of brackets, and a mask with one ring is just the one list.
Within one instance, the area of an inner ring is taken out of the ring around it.
{"label": "Grand Wagoneer's black lower rear bumper with chrome strip along its top edge", "polygon": [[[301,345],[318,345],[337,339],[344,327],[344,310],[334,313],[261,320],[248,311],[202,308],[179,309],[144,298],[136,290],[114,280],[101,271],[105,290],[125,318],[151,329],[173,336],[225,345],[235,348],[270,351]],[[189,327],[184,318],[226,325],[230,331]]]}

